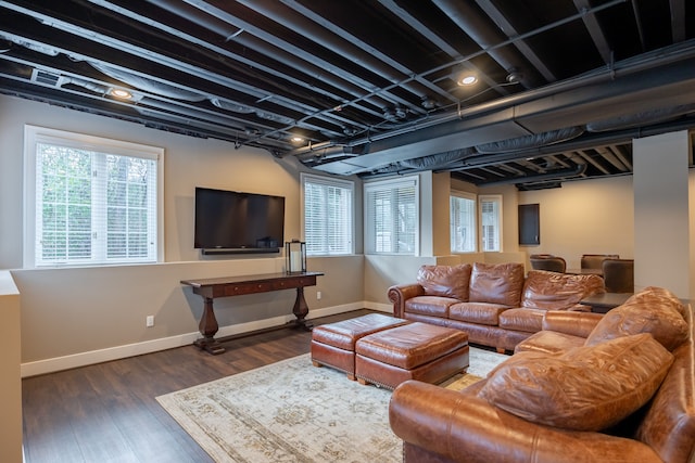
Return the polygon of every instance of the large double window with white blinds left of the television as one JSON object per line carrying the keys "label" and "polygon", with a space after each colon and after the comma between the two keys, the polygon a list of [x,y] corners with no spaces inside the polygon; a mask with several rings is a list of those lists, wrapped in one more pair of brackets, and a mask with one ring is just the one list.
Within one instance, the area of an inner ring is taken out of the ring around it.
{"label": "large double window with white blinds left of the television", "polygon": [[164,151],[25,128],[25,266],[155,262]]}

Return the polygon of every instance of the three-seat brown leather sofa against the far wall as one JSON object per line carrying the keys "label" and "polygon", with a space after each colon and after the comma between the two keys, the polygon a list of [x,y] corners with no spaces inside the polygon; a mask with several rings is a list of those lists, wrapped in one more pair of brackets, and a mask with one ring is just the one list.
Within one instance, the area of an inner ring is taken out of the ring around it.
{"label": "three-seat brown leather sofa against the far wall", "polygon": [[541,331],[547,310],[579,310],[581,299],[604,292],[601,276],[531,270],[521,263],[421,266],[417,282],[391,286],[400,319],[455,327],[468,342],[514,350]]}

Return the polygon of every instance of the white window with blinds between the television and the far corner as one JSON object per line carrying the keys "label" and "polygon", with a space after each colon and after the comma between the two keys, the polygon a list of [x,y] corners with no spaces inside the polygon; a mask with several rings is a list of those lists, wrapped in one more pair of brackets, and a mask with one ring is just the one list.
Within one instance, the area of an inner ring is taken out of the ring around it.
{"label": "white window with blinds between the television and the far corner", "polygon": [[306,255],[353,254],[354,183],[309,173],[300,178]]}

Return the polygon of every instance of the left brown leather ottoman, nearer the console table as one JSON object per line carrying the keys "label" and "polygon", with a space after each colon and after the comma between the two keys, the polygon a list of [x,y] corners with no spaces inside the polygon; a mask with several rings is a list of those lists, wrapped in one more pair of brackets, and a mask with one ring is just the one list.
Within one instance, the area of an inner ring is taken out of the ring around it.
{"label": "left brown leather ottoman, nearer the console table", "polygon": [[380,313],[343,320],[314,327],[312,332],[312,363],[327,365],[348,373],[355,381],[355,344],[372,333],[409,323]]}

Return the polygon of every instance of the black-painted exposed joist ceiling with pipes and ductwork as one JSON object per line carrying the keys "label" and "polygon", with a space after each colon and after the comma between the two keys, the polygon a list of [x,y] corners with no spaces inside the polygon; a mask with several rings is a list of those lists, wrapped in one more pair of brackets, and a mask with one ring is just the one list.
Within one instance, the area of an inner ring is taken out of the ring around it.
{"label": "black-painted exposed joist ceiling with pipes and ductwork", "polygon": [[0,1],[0,91],[334,175],[548,188],[695,127],[695,4]]}

